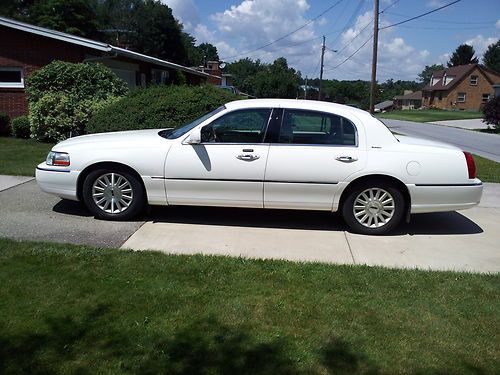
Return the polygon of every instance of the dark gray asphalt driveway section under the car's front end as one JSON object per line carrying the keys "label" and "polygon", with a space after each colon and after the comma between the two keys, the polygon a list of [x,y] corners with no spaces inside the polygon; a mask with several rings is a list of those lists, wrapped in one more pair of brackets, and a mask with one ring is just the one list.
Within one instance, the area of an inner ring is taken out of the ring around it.
{"label": "dark gray asphalt driveway section under the car's front end", "polygon": [[43,193],[34,180],[0,191],[0,237],[120,247],[142,224],[96,220],[79,202]]}

